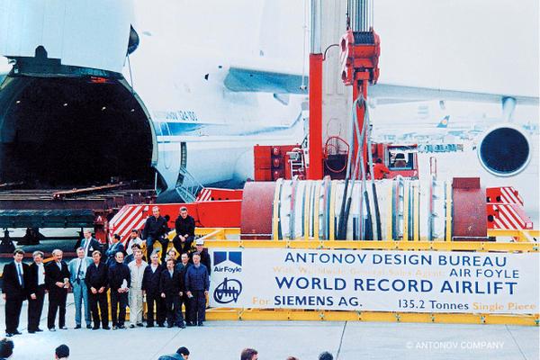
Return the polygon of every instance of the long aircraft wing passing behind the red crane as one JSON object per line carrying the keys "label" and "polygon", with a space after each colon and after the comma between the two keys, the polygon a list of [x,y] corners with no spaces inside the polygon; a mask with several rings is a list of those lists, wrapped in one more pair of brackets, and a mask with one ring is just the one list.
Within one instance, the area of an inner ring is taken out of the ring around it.
{"label": "long aircraft wing passing behind the red crane", "polygon": [[[303,81],[302,81],[303,80]],[[279,72],[261,68],[229,67],[224,85],[235,92],[263,92],[275,94],[308,94],[308,76],[294,72]],[[516,99],[518,104],[538,105],[535,96],[516,94],[490,94],[435,87],[405,86],[379,83],[368,89],[370,99],[377,104],[411,103],[427,100],[469,101],[475,103],[502,103],[505,98]]]}

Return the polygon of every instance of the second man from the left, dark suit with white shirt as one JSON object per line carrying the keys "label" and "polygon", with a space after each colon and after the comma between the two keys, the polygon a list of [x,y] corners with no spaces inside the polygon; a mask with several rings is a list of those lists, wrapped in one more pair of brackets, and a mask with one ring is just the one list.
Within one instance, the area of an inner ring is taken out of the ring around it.
{"label": "second man from the left, dark suit with white shirt", "polygon": [[28,267],[28,332],[33,334],[40,329],[43,300],[45,300],[45,265],[43,253],[34,251],[34,262]]}

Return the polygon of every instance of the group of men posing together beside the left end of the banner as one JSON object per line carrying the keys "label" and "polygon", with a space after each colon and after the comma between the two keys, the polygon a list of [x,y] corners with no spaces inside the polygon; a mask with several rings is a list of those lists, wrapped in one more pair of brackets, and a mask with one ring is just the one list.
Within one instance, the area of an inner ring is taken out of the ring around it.
{"label": "group of men posing together beside the left end of the banner", "polygon": [[[166,220],[159,208],[152,209],[143,229],[133,229],[126,247],[120,236],[114,235],[110,247],[104,251],[100,242],[86,229],[76,248],[76,258],[68,264],[63,252],[55,249],[52,261],[43,263],[43,253],[32,254],[31,265],[23,263],[22,249],[14,251],[14,261],[4,266],[4,300],[6,337],[21,334],[19,319],[24,301],[28,301],[28,332],[40,329],[40,317],[45,294],[49,293],[47,327],[56,331],[66,327],[66,301],[72,289],[75,301],[75,329],[81,329],[82,309],[85,309],[87,329],[111,329],[107,293],[110,291],[112,329],[125,329],[126,307],[130,307],[130,328],[142,327],[143,302],[147,302],[147,328],[202,326],[205,320],[206,297],[210,288],[211,260],[202,239],[195,242],[194,220],[182,207],[175,221],[176,236],[173,248],[166,252],[168,239]],[[153,244],[164,249],[159,262]],[[148,263],[143,259],[142,247],[147,247]],[[129,249],[130,251],[126,250]],[[127,256],[125,259],[124,257]],[[178,259],[178,261],[176,261]],[[185,308],[185,314],[182,308]],[[165,325],[166,324],[166,325]]]}

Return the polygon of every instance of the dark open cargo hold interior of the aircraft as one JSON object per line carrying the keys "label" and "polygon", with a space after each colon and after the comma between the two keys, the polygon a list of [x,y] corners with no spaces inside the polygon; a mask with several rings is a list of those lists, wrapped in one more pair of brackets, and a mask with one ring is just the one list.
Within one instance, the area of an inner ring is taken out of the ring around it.
{"label": "dark open cargo hold interior of the aircraft", "polygon": [[153,184],[151,125],[119,80],[8,76],[0,109],[0,183]]}

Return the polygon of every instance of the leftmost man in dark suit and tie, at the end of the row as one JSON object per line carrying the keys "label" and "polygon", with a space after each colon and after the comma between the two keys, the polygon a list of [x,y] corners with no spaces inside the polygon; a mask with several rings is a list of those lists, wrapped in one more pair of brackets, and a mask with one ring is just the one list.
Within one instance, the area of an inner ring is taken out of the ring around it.
{"label": "leftmost man in dark suit and tie, at the end of the row", "polygon": [[27,296],[28,266],[23,264],[24,251],[14,251],[14,261],[4,266],[5,336],[10,338],[21,333],[19,318],[23,301]]}

